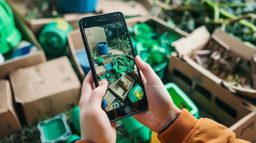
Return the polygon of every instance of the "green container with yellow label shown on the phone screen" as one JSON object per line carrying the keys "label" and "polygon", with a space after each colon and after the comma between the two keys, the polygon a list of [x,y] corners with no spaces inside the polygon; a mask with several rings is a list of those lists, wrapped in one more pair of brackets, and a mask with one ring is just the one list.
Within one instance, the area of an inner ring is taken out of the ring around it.
{"label": "green container with yellow label shown on the phone screen", "polygon": [[144,99],[144,92],[143,89],[139,84],[136,84],[129,92],[128,92],[128,98],[132,102],[139,101],[141,99]]}

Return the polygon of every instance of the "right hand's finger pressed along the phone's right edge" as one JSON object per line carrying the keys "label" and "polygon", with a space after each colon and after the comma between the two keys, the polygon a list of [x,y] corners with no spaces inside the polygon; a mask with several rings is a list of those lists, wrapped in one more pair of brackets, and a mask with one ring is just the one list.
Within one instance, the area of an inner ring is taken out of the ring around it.
{"label": "right hand's finger pressed along the phone's right edge", "polygon": [[141,70],[143,75],[145,76],[147,83],[155,82],[155,80],[159,79],[157,74],[154,72],[154,70],[151,68],[151,66],[145,62],[142,61],[141,57],[137,55],[135,57],[135,62],[138,66],[138,68]]}

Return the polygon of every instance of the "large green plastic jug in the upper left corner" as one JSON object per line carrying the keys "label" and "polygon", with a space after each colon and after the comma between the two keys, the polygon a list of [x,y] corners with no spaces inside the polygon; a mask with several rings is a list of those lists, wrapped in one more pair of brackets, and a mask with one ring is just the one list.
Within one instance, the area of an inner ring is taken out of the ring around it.
{"label": "large green plastic jug in the upper left corner", "polygon": [[11,8],[4,0],[0,0],[0,53],[8,53],[20,40],[21,34],[15,26]]}

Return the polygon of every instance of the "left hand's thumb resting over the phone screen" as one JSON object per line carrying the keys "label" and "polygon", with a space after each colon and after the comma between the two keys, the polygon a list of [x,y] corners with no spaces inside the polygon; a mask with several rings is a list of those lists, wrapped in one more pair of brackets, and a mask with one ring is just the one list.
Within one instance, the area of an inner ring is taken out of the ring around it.
{"label": "left hand's thumb resting over the phone screen", "polygon": [[93,106],[101,105],[102,98],[106,94],[108,88],[108,81],[102,80],[100,85],[92,90],[92,94],[89,99],[89,104],[92,104]]}

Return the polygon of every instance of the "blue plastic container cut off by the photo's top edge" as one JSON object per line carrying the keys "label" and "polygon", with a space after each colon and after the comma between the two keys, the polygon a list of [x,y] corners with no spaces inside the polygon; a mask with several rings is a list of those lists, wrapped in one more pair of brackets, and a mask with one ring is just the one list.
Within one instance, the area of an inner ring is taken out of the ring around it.
{"label": "blue plastic container cut off by the photo's top edge", "polygon": [[59,9],[66,13],[94,12],[98,0],[59,0]]}

